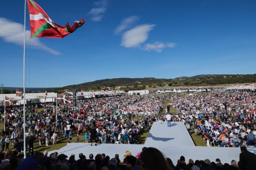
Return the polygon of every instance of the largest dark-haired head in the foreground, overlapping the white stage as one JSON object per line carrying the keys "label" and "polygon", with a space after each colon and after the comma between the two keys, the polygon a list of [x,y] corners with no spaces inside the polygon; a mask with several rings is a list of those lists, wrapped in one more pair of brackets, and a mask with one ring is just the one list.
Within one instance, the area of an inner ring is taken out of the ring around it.
{"label": "largest dark-haired head in the foreground, overlapping the white stage", "polygon": [[147,148],[141,152],[140,159],[145,170],[172,170],[163,153],[156,148]]}

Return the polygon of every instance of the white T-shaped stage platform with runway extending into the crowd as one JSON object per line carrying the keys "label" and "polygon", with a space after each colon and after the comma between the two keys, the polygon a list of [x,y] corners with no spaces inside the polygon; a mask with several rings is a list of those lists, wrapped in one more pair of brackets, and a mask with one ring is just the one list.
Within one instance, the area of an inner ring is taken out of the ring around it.
{"label": "white T-shaped stage platform with runway extending into the crowd", "polygon": [[[198,137],[199,138],[199,137]],[[210,159],[215,162],[216,158],[221,160],[221,163],[231,163],[231,160],[239,161],[240,148],[228,147],[196,147],[193,140],[190,138],[185,125],[182,122],[171,124],[167,127],[167,122],[154,122],[149,132],[145,145],[121,145],[121,144],[106,144],[103,143],[98,146],[91,146],[90,143],[70,143],[58,151],[59,154],[65,154],[68,157],[71,154],[78,155],[83,153],[86,158],[90,154],[94,156],[97,154],[106,154],[110,158],[114,158],[115,154],[119,154],[119,159],[122,160],[126,150],[131,151],[133,156],[136,156],[143,147],[154,147],[163,152],[166,157],[169,157],[173,164],[177,164],[180,156],[184,156],[186,163],[189,159],[204,160]],[[49,155],[50,155],[49,154]]]}

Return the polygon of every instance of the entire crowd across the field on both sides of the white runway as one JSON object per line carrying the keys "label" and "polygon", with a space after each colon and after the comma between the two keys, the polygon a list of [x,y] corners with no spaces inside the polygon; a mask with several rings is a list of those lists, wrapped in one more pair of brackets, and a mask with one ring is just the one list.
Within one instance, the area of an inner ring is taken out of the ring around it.
{"label": "entire crowd across the field on both sides of the white runway", "polygon": [[[18,158],[25,149],[33,154],[37,142],[38,145],[58,145],[58,139],[65,138],[69,144],[74,141],[72,139],[74,136],[79,142],[79,137],[83,134],[85,141],[90,141],[91,145],[94,141],[95,146],[98,143],[116,142],[134,144],[138,142],[139,135],[148,128],[149,124],[154,121],[165,121],[164,116],[157,115],[158,112],[163,111],[163,100],[167,100],[166,113],[170,112],[171,107],[177,109],[177,114],[168,117],[168,120],[171,118],[171,121],[184,122],[189,133],[190,129],[194,128],[195,135],[202,134],[207,146],[210,146],[210,143],[216,143],[220,147],[233,145],[245,148],[254,145],[255,141],[255,99],[255,92],[225,90],[212,90],[207,95],[198,93],[194,96],[180,94],[109,96],[78,100],[77,103],[81,109],[70,109],[68,105],[59,104],[57,115],[54,103],[33,103],[26,105],[25,127],[23,106],[6,107],[5,129],[1,132],[0,140],[1,152],[10,151],[10,146],[13,146],[14,153],[17,153],[14,155]],[[37,109],[40,107],[44,109],[38,112]],[[3,107],[0,109],[3,113]],[[2,118],[4,120],[4,116]],[[26,131],[25,139],[23,128]],[[41,156],[42,154],[35,152],[33,160],[39,160]],[[249,160],[251,159],[243,161]],[[63,158],[61,161],[66,164],[67,159]],[[143,160],[140,165],[147,167],[143,162],[146,160]],[[85,160],[84,163],[89,165]],[[194,165],[204,167],[203,163],[195,162]],[[78,167],[77,165],[76,168]],[[181,169],[187,167],[189,166]],[[111,169],[111,167],[108,168]],[[179,168],[176,166],[176,169]]]}

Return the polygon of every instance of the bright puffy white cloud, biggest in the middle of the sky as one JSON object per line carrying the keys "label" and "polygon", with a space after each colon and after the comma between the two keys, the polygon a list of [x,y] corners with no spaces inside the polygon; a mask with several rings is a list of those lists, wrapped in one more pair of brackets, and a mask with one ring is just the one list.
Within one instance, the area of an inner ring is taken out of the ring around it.
{"label": "bright puffy white cloud, biggest in the middle of the sky", "polygon": [[148,32],[155,27],[155,24],[145,24],[124,32],[121,46],[126,48],[139,47],[148,39]]}

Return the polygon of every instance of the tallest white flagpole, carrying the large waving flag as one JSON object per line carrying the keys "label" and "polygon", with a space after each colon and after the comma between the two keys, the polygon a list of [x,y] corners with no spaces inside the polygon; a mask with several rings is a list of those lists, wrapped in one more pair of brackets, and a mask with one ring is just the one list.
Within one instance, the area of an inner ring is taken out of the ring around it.
{"label": "tallest white flagpole, carrying the large waving flag", "polygon": [[25,107],[26,107],[26,104],[25,104],[25,98],[26,98],[26,88],[25,88],[25,75],[26,75],[26,57],[25,57],[25,47],[26,47],[26,0],[25,0],[25,6],[24,6],[24,47],[23,47],[23,91],[24,91],[24,98],[23,98],[23,145],[24,145],[24,159],[26,158],[26,127],[25,127],[25,123],[26,123],[26,117],[25,117]]}

